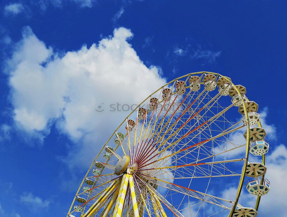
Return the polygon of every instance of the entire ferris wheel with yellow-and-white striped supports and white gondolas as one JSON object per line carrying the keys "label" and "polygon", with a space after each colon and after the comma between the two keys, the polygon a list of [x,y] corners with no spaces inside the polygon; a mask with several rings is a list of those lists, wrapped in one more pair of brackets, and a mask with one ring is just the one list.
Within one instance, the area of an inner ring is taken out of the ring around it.
{"label": "entire ferris wheel with yellow-and-white striped supports and white gondolas", "polygon": [[[270,190],[269,143],[258,105],[245,94],[212,72],[156,90],[103,145],[67,216],[257,216]],[[224,198],[234,183],[237,192]],[[241,191],[257,197],[253,208],[238,203]]]}

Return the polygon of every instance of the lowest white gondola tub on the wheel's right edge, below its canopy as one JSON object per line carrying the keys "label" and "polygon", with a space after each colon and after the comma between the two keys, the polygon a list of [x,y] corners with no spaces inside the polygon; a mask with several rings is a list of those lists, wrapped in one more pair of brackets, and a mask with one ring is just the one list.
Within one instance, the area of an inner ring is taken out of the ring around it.
{"label": "lowest white gondola tub on the wheel's right edge, below its canopy", "polygon": [[268,179],[263,179],[261,185],[260,180],[257,178],[249,178],[245,184],[247,191],[255,196],[263,196],[270,190],[270,183]]}

